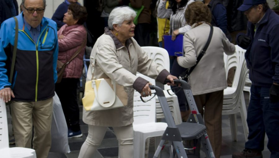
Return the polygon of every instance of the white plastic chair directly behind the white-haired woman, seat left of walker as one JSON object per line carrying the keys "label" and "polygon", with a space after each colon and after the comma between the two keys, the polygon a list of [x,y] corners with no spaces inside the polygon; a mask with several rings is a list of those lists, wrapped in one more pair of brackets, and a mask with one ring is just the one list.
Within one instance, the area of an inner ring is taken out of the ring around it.
{"label": "white plastic chair directly behind the white-haired woman, seat left of walker", "polygon": [[[155,80],[141,74],[143,77],[155,85]],[[154,94],[153,94],[154,95]],[[144,98],[146,99],[146,98]],[[134,158],[144,158],[145,140],[148,137],[155,137],[155,147],[160,143],[160,137],[166,130],[167,124],[156,122],[156,100],[155,97],[144,103],[140,99],[139,92],[134,93]],[[159,137],[159,138],[158,138]],[[147,147],[148,148],[148,147]]]}

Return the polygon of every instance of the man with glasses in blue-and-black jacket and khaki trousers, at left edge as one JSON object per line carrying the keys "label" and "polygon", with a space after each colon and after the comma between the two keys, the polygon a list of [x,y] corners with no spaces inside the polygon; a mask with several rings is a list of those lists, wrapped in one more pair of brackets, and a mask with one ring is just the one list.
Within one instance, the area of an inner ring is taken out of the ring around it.
{"label": "man with glasses in blue-and-black jacket and khaki trousers, at left edge", "polygon": [[0,29],[0,98],[11,103],[16,147],[31,148],[34,127],[33,149],[38,158],[47,158],[51,147],[57,80],[57,26],[43,17],[45,7],[46,0],[22,0],[20,15],[5,20]]}

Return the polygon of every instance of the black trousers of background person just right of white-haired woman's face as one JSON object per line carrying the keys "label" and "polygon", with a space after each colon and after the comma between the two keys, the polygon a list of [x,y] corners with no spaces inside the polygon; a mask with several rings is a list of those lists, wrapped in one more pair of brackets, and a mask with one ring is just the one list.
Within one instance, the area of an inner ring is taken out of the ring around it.
{"label": "black trousers of background person just right of white-haired woman's face", "polygon": [[149,44],[150,24],[140,23],[135,27],[135,40],[139,46],[148,46]]}

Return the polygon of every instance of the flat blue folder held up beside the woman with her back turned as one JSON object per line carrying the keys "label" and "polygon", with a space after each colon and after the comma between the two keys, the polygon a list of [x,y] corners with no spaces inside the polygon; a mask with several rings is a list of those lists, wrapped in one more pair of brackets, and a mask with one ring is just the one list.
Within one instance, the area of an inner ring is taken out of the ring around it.
{"label": "flat blue folder held up beside the woman with her back turned", "polygon": [[[164,35],[164,48],[168,51],[170,56],[175,56],[175,52],[183,53],[183,35],[179,34],[175,40],[171,40],[171,35]],[[177,55],[176,56],[182,56]]]}

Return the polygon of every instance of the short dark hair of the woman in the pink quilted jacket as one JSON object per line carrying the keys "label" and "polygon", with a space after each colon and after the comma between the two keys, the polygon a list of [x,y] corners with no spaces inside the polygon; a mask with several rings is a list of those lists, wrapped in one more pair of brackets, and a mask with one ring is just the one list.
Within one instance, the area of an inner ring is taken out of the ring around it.
{"label": "short dark hair of the woman in the pink quilted jacket", "polygon": [[77,24],[83,24],[87,19],[87,11],[86,7],[80,6],[77,3],[71,3],[68,7],[70,11],[72,11],[73,19],[77,20]]}

